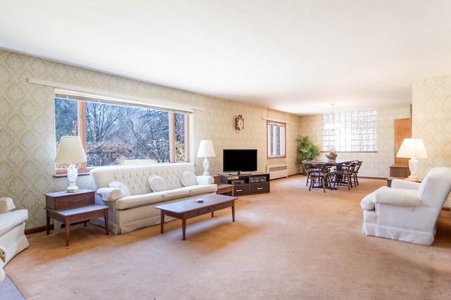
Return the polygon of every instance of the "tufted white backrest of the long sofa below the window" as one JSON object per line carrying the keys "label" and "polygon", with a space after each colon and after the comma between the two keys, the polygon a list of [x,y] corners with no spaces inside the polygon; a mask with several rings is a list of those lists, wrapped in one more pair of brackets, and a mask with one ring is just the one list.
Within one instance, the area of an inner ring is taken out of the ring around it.
{"label": "tufted white backrest of the long sofa below the window", "polygon": [[89,174],[92,190],[107,188],[111,181],[116,180],[127,185],[131,195],[142,195],[152,192],[148,181],[149,176],[163,177],[168,190],[181,188],[183,185],[180,176],[184,171],[194,174],[194,164],[178,162],[97,167]]}

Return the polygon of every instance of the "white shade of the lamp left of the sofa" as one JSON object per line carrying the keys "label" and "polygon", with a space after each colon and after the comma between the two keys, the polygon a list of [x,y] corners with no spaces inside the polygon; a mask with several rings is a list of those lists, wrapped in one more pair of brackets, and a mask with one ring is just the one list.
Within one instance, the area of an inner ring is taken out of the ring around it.
{"label": "white shade of the lamp left of the sofa", "polygon": [[55,162],[66,164],[86,162],[85,149],[80,136],[61,136]]}

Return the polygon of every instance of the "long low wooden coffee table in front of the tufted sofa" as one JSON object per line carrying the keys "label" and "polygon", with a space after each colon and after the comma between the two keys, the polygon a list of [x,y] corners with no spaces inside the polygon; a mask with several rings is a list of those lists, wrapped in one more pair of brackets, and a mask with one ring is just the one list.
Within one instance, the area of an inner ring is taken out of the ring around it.
{"label": "long low wooden coffee table in front of the tufted sofa", "polygon": [[[201,216],[202,214],[211,213],[211,217],[213,218],[214,211],[232,207],[232,221],[235,222],[235,200],[237,199],[237,197],[213,194],[158,205],[155,208],[160,209],[161,211],[161,233],[163,233],[164,228],[164,216],[172,216],[174,218],[182,219],[182,240],[185,240],[186,220],[194,218],[194,216]],[[203,202],[198,202],[198,200],[202,200]]]}

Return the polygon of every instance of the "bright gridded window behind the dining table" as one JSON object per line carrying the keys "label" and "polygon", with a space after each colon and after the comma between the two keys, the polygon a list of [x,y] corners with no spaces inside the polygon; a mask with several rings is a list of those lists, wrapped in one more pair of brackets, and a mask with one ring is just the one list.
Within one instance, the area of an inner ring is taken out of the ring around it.
{"label": "bright gridded window behind the dining table", "polygon": [[321,151],[376,152],[376,110],[323,115]]}

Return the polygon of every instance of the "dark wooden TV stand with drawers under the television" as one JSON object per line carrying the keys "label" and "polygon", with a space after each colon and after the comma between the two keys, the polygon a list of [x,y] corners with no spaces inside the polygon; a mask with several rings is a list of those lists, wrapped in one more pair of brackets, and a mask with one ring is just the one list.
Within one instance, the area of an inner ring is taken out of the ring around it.
{"label": "dark wooden TV stand with drawers under the television", "polygon": [[269,173],[221,174],[221,183],[235,185],[235,197],[269,193]]}

